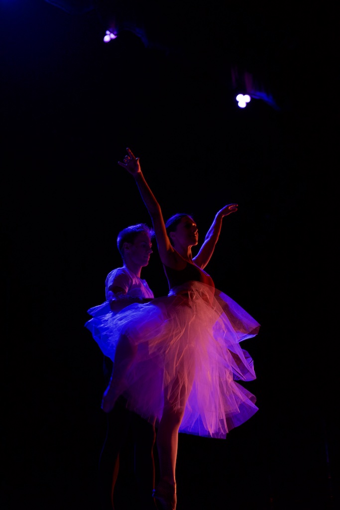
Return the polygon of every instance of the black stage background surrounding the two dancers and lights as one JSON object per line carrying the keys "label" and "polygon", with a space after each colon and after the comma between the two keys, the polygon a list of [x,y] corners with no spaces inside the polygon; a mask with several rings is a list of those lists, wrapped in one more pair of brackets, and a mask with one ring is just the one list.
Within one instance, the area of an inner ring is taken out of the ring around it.
{"label": "black stage background surrounding the two dancers and lights", "polygon": [[[184,4],[1,2],[4,510],[98,508],[102,355],[84,323],[118,232],[149,223],[126,146],[201,241],[239,203],[207,271],[261,324],[244,345],[259,411],[225,441],[180,435],[177,509],[338,504],[337,17]],[[156,247],[142,275],[168,292]]]}

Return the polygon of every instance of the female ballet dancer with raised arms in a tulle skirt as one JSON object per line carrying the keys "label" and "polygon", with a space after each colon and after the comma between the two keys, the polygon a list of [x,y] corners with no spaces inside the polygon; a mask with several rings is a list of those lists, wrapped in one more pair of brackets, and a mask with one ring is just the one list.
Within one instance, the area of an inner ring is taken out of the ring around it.
{"label": "female ballet dancer with raised arms in a tulle skirt", "polygon": [[160,480],[154,497],[163,510],[176,508],[178,432],[225,438],[258,410],[256,398],[237,380],[256,378],[242,340],[260,325],[238,303],[215,288],[204,271],[219,239],[222,220],[237,203],[220,209],[204,242],[188,214],[164,221],[139,158],[127,148],[118,164],[133,175],[150,214],[169,294],[146,304],[132,304],[105,326],[97,342],[114,360],[102,409],[110,412],[123,394],[129,409],[145,419],[156,417]]}

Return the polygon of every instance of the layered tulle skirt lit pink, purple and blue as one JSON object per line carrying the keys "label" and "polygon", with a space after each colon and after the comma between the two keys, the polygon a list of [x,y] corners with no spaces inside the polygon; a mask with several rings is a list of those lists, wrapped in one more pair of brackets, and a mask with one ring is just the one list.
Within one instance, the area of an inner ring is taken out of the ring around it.
{"label": "layered tulle skirt lit pink, purple and blue", "polygon": [[226,294],[189,282],[116,315],[106,304],[89,313],[85,326],[113,362],[119,338],[134,347],[122,394],[143,418],[159,423],[166,403],[184,412],[179,432],[225,438],[258,410],[236,381],[256,378],[240,342],[260,325]]}

